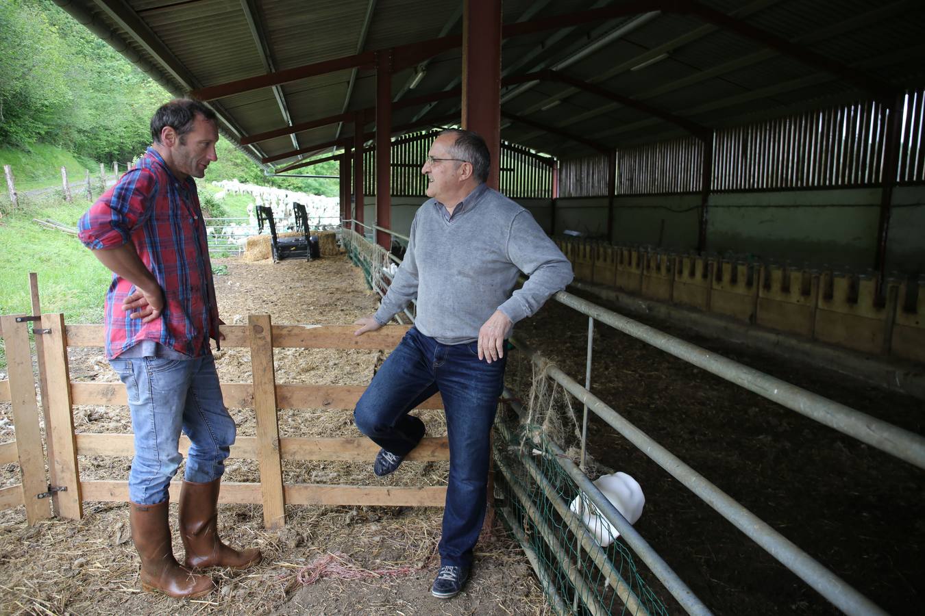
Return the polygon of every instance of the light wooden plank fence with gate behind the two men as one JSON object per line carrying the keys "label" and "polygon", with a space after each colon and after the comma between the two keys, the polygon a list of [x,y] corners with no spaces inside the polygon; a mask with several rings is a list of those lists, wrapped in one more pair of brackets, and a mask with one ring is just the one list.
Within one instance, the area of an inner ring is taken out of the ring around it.
{"label": "light wooden plank fence with gate behind the two men", "polygon": [[[33,287],[34,289],[34,287]],[[37,300],[37,298],[36,298]],[[35,303],[37,305],[37,301]],[[34,320],[40,375],[47,381],[44,397],[48,468],[46,479],[39,410],[35,398],[29,345],[28,320],[19,316],[0,318],[6,344],[9,380],[0,381],[0,402],[11,402],[17,440],[0,444],[0,464],[19,459],[22,483],[0,489],[0,510],[26,506],[27,521],[52,515],[48,501],[54,499],[55,514],[80,519],[83,501],[128,501],[127,480],[81,480],[79,455],[130,456],[131,434],[80,433],[74,431],[74,405],[126,405],[120,382],[74,382],[68,375],[68,347],[102,347],[102,325],[66,325],[61,314],[43,314]],[[29,317],[26,317],[29,319]],[[285,525],[286,504],[443,506],[445,487],[380,487],[319,484],[284,484],[283,460],[337,460],[372,463],[378,446],[357,438],[280,438],[277,409],[345,409],[355,405],[364,386],[278,384],[273,367],[274,348],[392,349],[407,331],[388,326],[378,332],[353,336],[353,326],[272,325],[269,315],[251,315],[247,325],[223,325],[228,347],[249,347],[253,382],[222,383],[225,404],[230,408],[253,408],[256,436],[239,437],[231,458],[257,460],[259,483],[222,484],[221,502],[261,504],[267,528]],[[38,332],[42,332],[41,334]],[[420,408],[442,408],[439,395]],[[182,437],[186,453],[190,441]],[[449,460],[446,437],[425,438],[409,460]],[[170,485],[171,499],[179,496],[179,481]],[[42,495],[41,497],[39,495]],[[49,498],[52,497],[52,498]]]}

